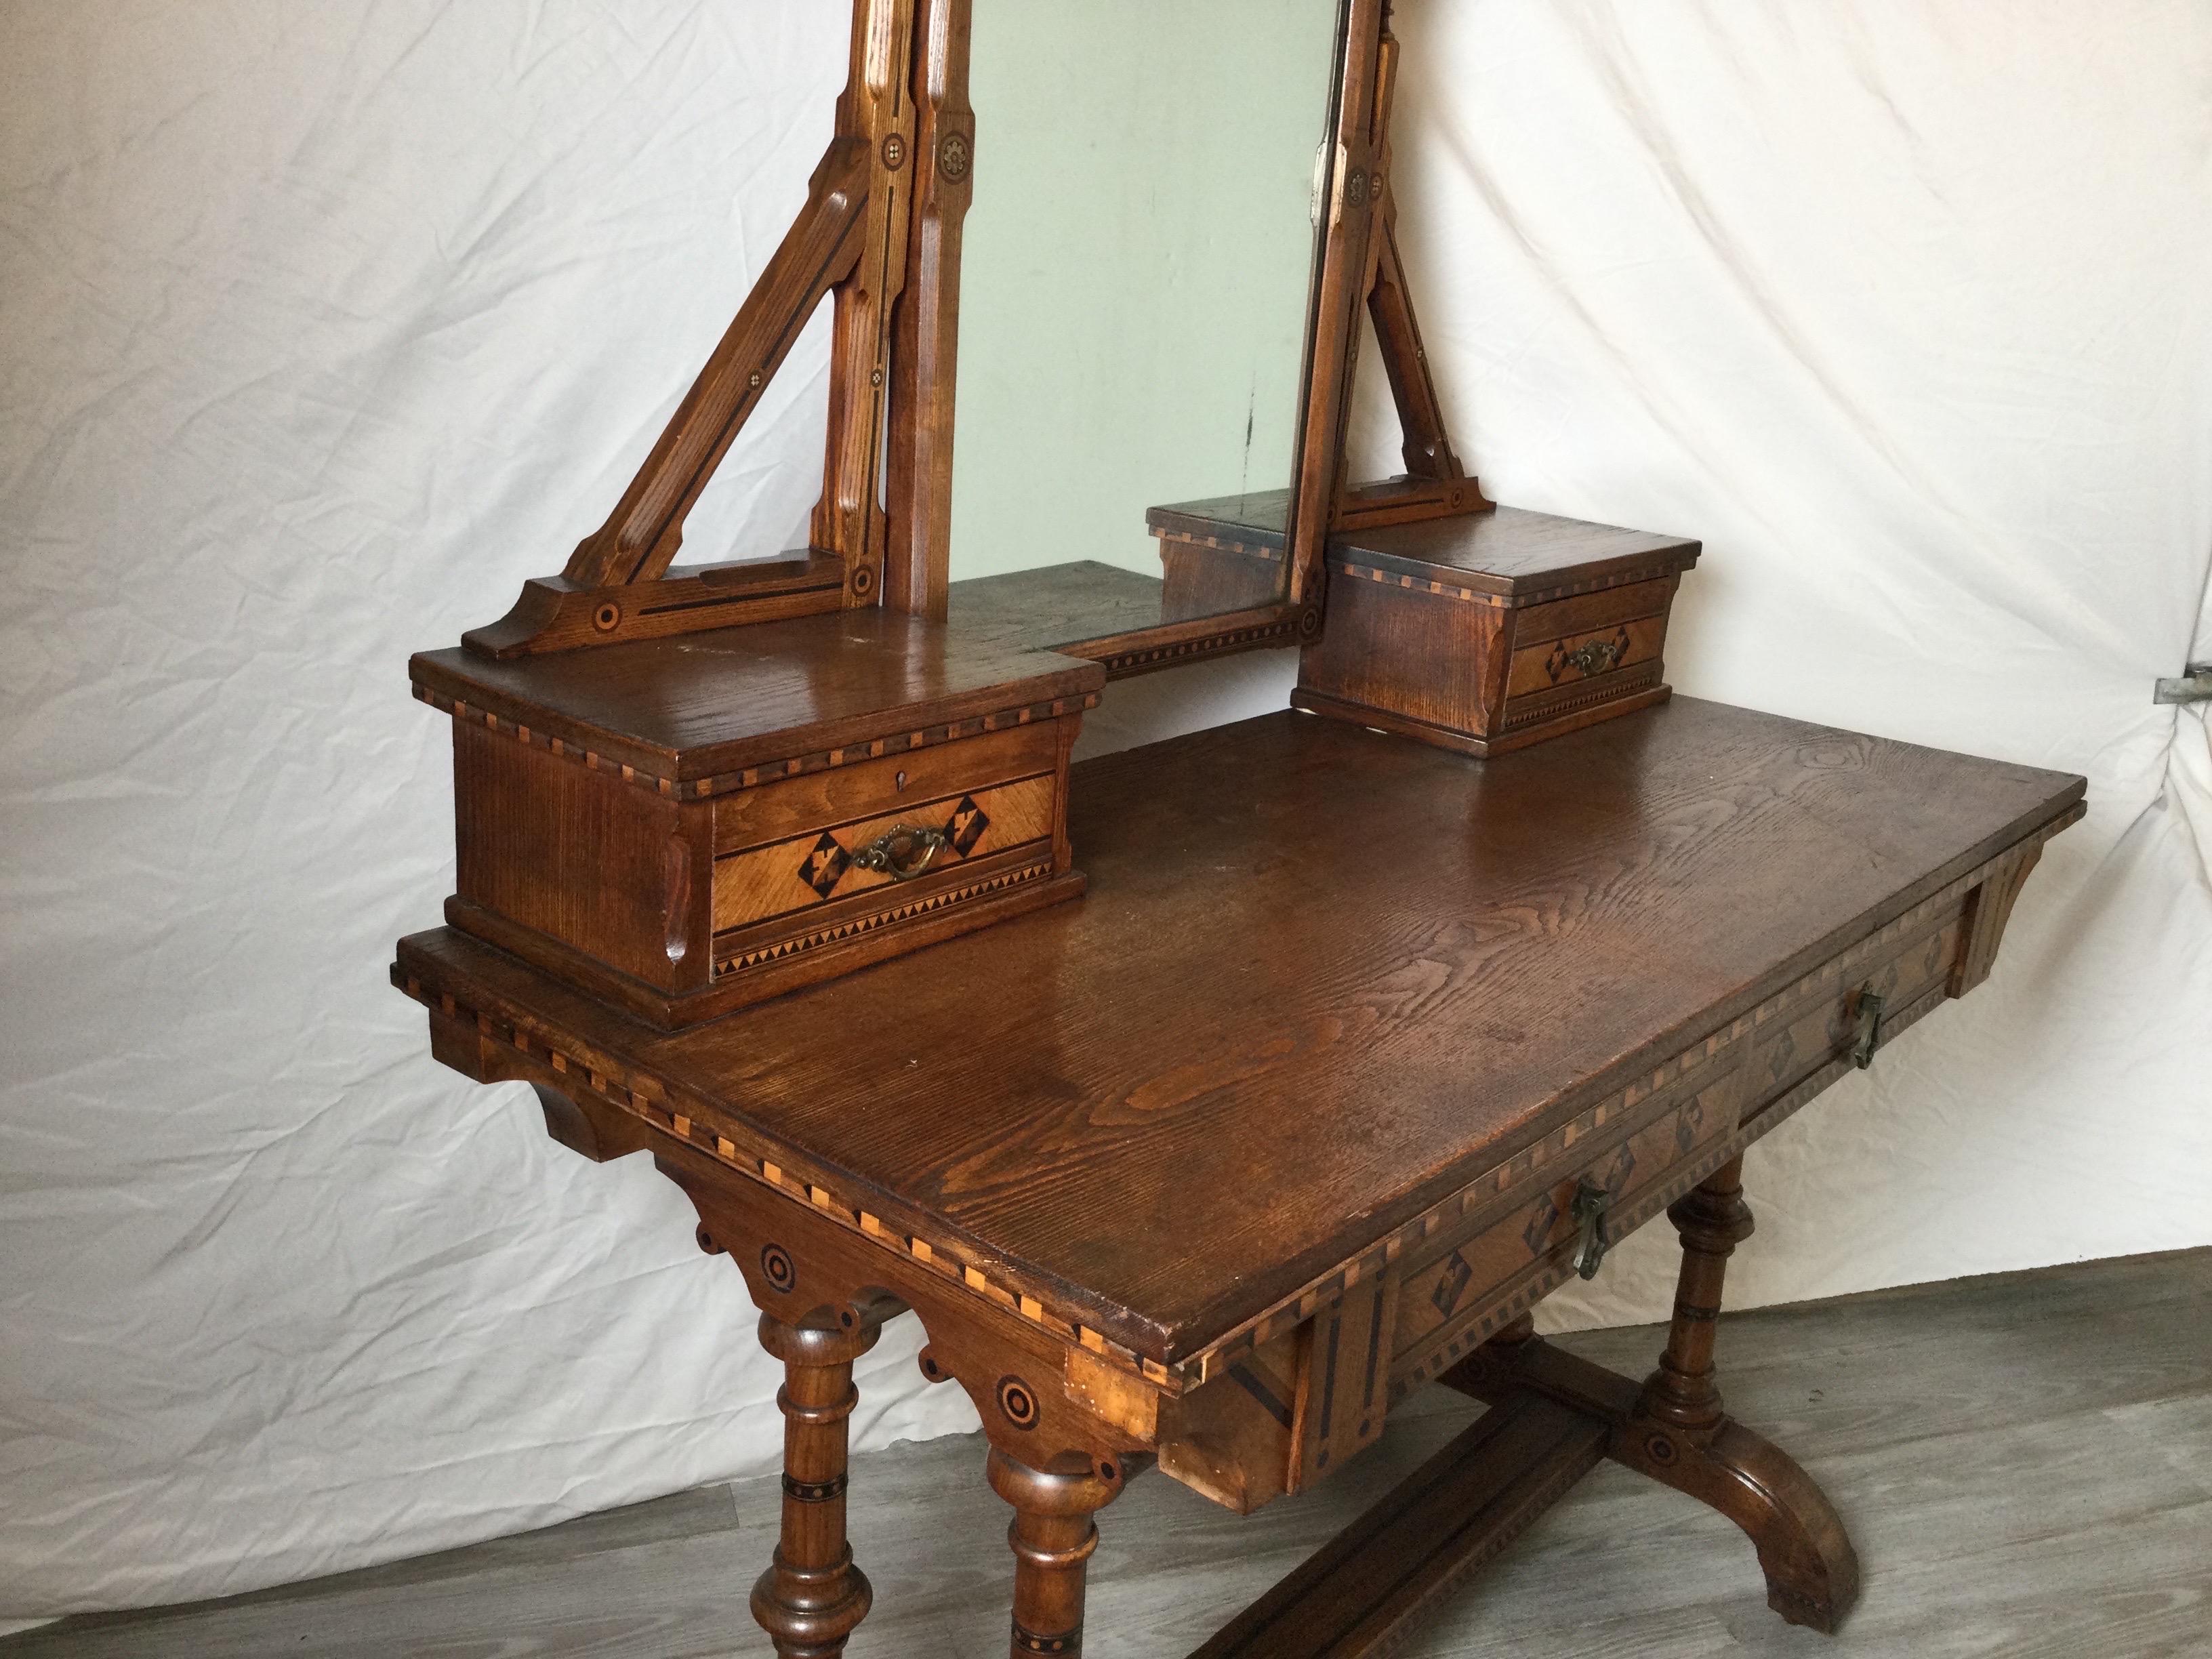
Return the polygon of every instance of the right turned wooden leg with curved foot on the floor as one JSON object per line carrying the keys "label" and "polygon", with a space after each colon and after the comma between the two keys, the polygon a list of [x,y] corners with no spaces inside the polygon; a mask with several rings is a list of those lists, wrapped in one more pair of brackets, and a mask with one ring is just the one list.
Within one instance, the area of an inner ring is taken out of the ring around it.
{"label": "right turned wooden leg with curved foot on the floor", "polygon": [[1674,1325],[1613,1455],[1736,1522],[1759,1548],[1767,1606],[1790,1624],[1834,1635],[1858,1599],[1858,1553],[1843,1520],[1787,1453],[1721,1411],[1714,1380],[1721,1281],[1728,1256],[1752,1232],[1743,1159],[1672,1203],[1668,1221],[1681,1234]]}

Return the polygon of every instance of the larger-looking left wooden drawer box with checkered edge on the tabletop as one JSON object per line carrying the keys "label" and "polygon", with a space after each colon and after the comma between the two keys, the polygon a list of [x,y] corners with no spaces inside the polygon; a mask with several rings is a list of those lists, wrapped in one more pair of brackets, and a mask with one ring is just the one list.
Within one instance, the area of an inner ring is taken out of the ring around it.
{"label": "larger-looking left wooden drawer box with checkered edge on the tabletop", "polygon": [[453,717],[447,920],[664,1029],[1084,887],[1097,664],[852,611],[409,672]]}

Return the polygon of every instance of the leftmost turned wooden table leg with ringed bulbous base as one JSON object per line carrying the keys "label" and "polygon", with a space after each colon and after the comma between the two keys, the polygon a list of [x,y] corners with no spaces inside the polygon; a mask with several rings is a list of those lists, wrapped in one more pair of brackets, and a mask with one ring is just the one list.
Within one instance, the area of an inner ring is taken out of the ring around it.
{"label": "leftmost turned wooden table leg with ringed bulbous base", "polygon": [[845,1420],[860,1394],[852,1363],[880,1321],[841,1307],[803,1325],[761,1314],[761,1347],[783,1360],[783,1540],[752,1586],[752,1617],[781,1659],[836,1659],[874,1593],[845,1542]]}

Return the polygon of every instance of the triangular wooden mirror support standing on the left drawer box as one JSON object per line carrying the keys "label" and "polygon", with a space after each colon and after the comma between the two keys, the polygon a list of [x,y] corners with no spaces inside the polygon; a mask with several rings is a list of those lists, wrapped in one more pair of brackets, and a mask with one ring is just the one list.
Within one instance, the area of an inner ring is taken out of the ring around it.
{"label": "triangular wooden mirror support standing on the left drawer box", "polygon": [[[894,498],[891,513],[878,504],[878,480],[894,425],[902,436],[914,429],[911,420],[894,422],[889,409],[900,356],[894,316],[931,334],[938,352],[949,347],[945,336],[953,327],[940,283],[925,281],[914,303],[900,299],[914,270],[909,239],[918,219],[936,246],[947,223],[958,243],[971,192],[973,115],[964,77],[953,86],[945,73],[949,40],[960,42],[964,62],[969,7],[971,0],[854,0],[852,75],[807,206],[606,524],[577,544],[562,575],[524,584],[507,617],[465,635],[471,650],[520,657],[880,602],[896,515],[918,509],[925,522],[945,518],[927,489],[918,495],[909,482],[914,469],[900,458],[891,458],[891,473],[900,476],[902,500]],[[830,442],[812,546],[783,560],[672,568],[684,520],[825,296],[836,319]],[[958,279],[949,303],[958,303]],[[925,484],[938,473],[949,480],[949,465],[925,471]],[[938,489],[945,491],[949,482]]]}

